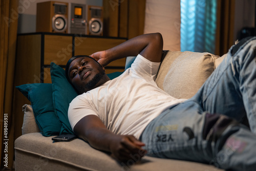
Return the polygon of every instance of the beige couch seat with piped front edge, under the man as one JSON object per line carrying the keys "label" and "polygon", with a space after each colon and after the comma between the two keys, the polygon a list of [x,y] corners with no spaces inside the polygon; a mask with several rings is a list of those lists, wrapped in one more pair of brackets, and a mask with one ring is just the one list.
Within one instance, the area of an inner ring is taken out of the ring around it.
{"label": "beige couch seat with piped front edge, under the man", "polygon": [[15,140],[15,170],[222,170],[209,164],[160,159],[145,156],[141,162],[118,163],[109,154],[75,139],[55,142],[40,133],[20,136]]}

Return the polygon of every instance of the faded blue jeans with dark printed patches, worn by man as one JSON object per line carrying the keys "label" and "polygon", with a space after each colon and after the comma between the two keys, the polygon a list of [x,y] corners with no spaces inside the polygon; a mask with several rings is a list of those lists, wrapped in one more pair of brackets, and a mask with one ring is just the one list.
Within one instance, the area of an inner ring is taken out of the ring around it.
{"label": "faded blue jeans with dark printed patches, worn by man", "polygon": [[[147,125],[141,141],[148,156],[255,170],[256,37],[236,48],[194,97]],[[240,124],[246,116],[250,130]]]}

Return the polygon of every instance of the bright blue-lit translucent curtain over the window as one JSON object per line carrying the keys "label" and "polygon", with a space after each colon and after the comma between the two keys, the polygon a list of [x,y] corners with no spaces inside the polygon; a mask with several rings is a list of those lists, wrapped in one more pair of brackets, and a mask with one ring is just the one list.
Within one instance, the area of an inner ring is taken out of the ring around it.
{"label": "bright blue-lit translucent curtain over the window", "polygon": [[181,0],[181,51],[215,53],[217,0]]}

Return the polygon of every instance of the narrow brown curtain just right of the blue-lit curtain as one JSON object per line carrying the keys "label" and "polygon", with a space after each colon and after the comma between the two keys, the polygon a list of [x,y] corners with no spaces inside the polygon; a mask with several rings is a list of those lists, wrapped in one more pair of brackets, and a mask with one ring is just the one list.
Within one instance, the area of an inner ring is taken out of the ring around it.
{"label": "narrow brown curtain just right of the blue-lit curtain", "polygon": [[217,33],[215,54],[222,56],[234,44],[234,8],[233,0],[218,0],[217,5]]}

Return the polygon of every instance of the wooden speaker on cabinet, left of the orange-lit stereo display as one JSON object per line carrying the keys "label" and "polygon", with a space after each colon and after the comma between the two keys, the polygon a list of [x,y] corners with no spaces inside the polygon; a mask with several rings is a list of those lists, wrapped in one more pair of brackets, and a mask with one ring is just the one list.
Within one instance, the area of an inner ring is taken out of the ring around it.
{"label": "wooden speaker on cabinet, left of the orange-lit stereo display", "polygon": [[37,3],[36,32],[68,32],[68,3]]}

